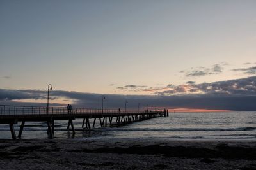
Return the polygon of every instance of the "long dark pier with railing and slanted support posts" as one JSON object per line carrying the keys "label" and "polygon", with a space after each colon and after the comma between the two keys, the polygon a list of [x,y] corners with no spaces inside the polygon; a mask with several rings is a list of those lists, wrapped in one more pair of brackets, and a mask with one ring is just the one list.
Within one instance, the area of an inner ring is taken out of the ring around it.
{"label": "long dark pier with railing and slanted support posts", "polygon": [[[71,111],[67,107],[39,107],[39,106],[7,106],[0,105],[0,124],[9,124],[12,139],[21,138],[22,131],[26,122],[47,122],[47,134],[49,138],[54,137],[54,125],[56,120],[67,120],[67,131],[76,133],[73,121],[83,119],[81,127],[90,129],[95,127],[95,124],[100,124],[100,127],[106,127],[113,124],[127,124],[141,120],[147,120],[154,117],[167,117],[168,110],[125,110],[120,109],[88,109],[88,108],[73,108]],[[93,121],[90,121],[90,120]],[[16,136],[14,124],[21,122],[19,134]],[[91,126],[91,123],[92,126]]]}

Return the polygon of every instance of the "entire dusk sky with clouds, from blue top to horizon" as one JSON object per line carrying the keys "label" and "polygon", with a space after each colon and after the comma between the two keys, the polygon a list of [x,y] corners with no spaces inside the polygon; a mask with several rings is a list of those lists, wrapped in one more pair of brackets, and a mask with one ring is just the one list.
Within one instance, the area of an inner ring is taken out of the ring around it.
{"label": "entire dusk sky with clouds, from blue top to horizon", "polygon": [[[256,1],[0,1],[0,104],[256,110]],[[239,104],[239,106],[237,106]]]}

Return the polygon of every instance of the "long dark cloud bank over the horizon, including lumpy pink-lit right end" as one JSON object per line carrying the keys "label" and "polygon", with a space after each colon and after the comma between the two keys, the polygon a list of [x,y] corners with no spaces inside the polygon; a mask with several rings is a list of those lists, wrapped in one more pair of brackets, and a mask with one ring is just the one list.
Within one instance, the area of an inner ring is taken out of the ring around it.
{"label": "long dark cloud bank over the horizon, including lumpy pink-lit right end", "polygon": [[[256,76],[237,80],[218,81],[214,83],[186,84],[191,90],[191,94],[184,91],[184,85],[172,86],[172,90],[155,92],[158,95],[115,95],[104,94],[106,108],[124,108],[125,100],[128,101],[129,108],[159,106],[168,108],[202,108],[235,111],[255,111],[256,110]],[[202,93],[193,94],[200,91]],[[179,95],[177,95],[179,92]],[[90,94],[82,92],[51,91],[51,101],[58,98],[66,98],[74,101],[77,107],[100,108],[102,94]],[[19,99],[46,99],[47,92],[44,90],[8,90],[0,89],[0,104],[20,104],[20,105],[44,105],[40,103],[20,103],[13,100]],[[53,103],[51,106],[61,106]]]}

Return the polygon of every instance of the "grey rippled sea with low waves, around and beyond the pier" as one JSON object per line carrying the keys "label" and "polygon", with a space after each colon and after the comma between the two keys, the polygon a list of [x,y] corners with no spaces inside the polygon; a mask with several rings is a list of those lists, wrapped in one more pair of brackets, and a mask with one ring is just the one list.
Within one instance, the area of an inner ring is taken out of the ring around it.
{"label": "grey rippled sea with low waves, around and beyond the pier", "polygon": [[[115,118],[113,118],[115,122]],[[169,117],[100,128],[96,121],[92,131],[81,128],[82,120],[74,120],[75,136],[67,131],[68,120],[56,120],[56,139],[167,139],[186,141],[256,141],[256,111],[226,113],[169,113]],[[92,126],[93,119],[90,120]],[[19,124],[15,125],[16,134]],[[45,122],[26,122],[22,139],[46,139]],[[0,139],[11,139],[10,127],[0,124]]]}

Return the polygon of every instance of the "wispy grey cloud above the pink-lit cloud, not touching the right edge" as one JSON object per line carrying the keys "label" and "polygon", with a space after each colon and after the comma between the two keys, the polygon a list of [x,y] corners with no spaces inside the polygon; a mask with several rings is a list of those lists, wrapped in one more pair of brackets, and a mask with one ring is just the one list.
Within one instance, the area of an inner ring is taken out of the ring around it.
{"label": "wispy grey cloud above the pink-lit cloud, not touching the right edge", "polygon": [[206,67],[195,67],[189,70],[182,70],[180,73],[184,73],[186,77],[196,77],[196,76],[207,76],[211,74],[220,74],[222,73],[224,67],[227,66],[227,62],[221,62],[220,64],[214,64],[209,68]]}

